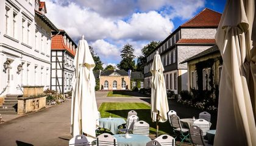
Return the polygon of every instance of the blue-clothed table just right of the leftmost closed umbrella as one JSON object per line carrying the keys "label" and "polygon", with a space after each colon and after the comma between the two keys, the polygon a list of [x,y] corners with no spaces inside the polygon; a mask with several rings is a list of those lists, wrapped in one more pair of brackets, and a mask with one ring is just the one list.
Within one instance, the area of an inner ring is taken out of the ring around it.
{"label": "blue-clothed table just right of the leftmost closed umbrella", "polygon": [[112,118],[99,118],[99,127],[107,128],[113,134],[118,133],[118,125],[126,123],[123,118],[112,117]]}

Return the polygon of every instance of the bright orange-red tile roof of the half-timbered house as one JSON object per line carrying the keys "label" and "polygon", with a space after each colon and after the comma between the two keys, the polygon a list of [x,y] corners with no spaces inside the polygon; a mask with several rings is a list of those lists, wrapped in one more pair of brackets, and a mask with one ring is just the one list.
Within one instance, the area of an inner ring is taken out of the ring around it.
{"label": "bright orange-red tile roof of the half-timbered house", "polygon": [[73,57],[76,55],[76,51],[66,46],[63,40],[62,35],[55,35],[52,37],[51,43],[52,50],[67,50],[70,55]]}

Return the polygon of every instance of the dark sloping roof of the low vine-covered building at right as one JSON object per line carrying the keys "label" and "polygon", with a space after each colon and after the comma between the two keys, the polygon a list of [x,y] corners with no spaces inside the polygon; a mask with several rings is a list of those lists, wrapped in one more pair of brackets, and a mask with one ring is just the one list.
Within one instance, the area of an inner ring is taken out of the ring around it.
{"label": "dark sloping roof of the low vine-covered building at right", "polygon": [[206,55],[210,55],[210,54],[213,54],[215,52],[219,52],[219,47],[217,45],[212,46],[209,49],[206,49],[203,52],[201,52],[199,54],[196,54],[193,57],[188,58],[187,60],[182,61],[180,64],[187,63],[188,61],[195,60],[197,58],[204,57]]}

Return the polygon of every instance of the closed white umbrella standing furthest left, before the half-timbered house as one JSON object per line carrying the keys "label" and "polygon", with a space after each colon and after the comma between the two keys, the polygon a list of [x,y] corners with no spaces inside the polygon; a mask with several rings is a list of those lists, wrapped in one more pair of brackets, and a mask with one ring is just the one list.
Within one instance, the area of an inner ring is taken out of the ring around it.
{"label": "closed white umbrella standing furthest left, before the half-timbered house", "polygon": [[71,105],[71,134],[87,134],[96,137],[96,121],[99,119],[95,99],[95,78],[93,68],[95,63],[91,56],[88,43],[79,41],[74,58],[75,72],[73,75],[73,95]]}

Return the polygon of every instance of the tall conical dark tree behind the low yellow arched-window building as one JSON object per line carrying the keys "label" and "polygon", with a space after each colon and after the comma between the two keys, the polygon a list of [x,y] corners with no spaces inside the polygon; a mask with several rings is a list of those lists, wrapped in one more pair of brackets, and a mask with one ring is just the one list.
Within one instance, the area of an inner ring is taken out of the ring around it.
{"label": "tall conical dark tree behind the low yellow arched-window building", "polygon": [[132,44],[125,44],[123,49],[121,50],[122,60],[117,65],[119,69],[124,69],[124,71],[128,71],[132,69],[135,71],[135,55],[133,54],[134,48]]}

